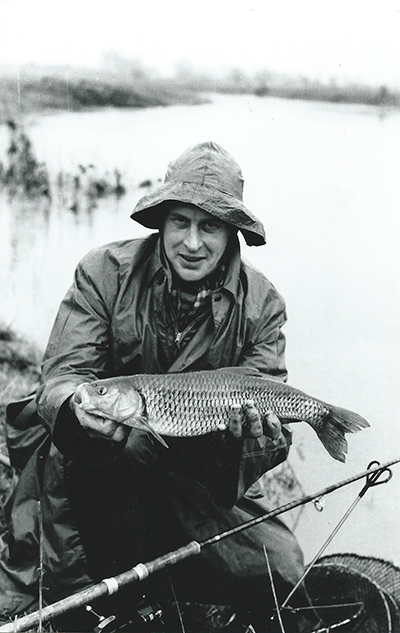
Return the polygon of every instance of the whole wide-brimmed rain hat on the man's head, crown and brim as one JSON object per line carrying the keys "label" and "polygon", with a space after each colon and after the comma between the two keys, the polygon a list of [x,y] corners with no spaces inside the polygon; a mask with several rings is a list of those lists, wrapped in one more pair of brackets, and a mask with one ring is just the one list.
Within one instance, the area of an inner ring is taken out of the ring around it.
{"label": "whole wide-brimmed rain hat on the man's head, crown and brim", "polygon": [[249,246],[265,244],[264,226],[243,204],[243,176],[235,159],[212,141],[189,147],[168,165],[164,184],[143,196],[131,218],[159,229],[167,201],[194,204],[243,233]]}

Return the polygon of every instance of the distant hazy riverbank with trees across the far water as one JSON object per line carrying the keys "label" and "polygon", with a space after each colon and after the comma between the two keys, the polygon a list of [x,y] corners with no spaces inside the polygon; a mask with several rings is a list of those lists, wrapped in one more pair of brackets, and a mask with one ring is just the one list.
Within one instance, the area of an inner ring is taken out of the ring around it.
{"label": "distant hazy riverbank with trees across the far water", "polygon": [[149,71],[124,76],[70,69],[33,72],[22,68],[16,73],[4,74],[0,67],[0,79],[0,123],[10,118],[23,120],[29,114],[57,111],[200,105],[209,102],[206,95],[210,94],[248,94],[385,109],[400,107],[400,93],[385,85],[342,85],[268,72],[253,76],[232,71],[226,76],[214,77],[192,71],[160,78]]}

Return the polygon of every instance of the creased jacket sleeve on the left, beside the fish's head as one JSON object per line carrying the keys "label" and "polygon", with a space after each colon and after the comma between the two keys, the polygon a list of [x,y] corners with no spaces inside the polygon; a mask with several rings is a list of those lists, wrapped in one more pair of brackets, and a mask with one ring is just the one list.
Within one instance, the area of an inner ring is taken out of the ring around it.
{"label": "creased jacket sleeve on the left, beside the fish's head", "polygon": [[[56,425],[68,426],[63,405],[76,387],[108,375],[110,303],[117,277],[110,267],[104,254],[92,253],[82,260],[50,335],[36,399],[38,414],[55,442],[60,435],[59,429],[54,433]],[[70,432],[80,435],[79,425],[71,422]]]}

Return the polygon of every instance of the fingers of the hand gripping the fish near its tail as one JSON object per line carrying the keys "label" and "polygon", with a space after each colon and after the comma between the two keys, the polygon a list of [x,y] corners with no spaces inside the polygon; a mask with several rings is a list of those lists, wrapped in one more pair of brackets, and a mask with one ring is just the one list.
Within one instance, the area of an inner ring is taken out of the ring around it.
{"label": "fingers of the hand gripping the fish near its tail", "polygon": [[243,406],[231,407],[228,415],[227,432],[234,438],[257,438],[265,435],[271,440],[276,440],[282,431],[281,422],[273,411],[268,411],[264,419],[261,420],[253,400],[248,400]]}

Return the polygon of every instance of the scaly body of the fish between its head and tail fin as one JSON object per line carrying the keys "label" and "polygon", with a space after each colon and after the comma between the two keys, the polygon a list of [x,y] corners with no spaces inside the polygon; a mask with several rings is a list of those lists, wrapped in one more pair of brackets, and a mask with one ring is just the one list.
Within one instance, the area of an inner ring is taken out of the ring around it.
{"label": "scaly body of the fish between its head and tail fin", "polygon": [[[142,393],[155,430],[164,435],[201,435],[228,424],[228,408],[253,400],[261,415],[274,411],[285,419],[322,422],[328,409],[285,383],[262,376],[222,371],[132,376]],[[184,377],[184,380],[182,378]]]}

